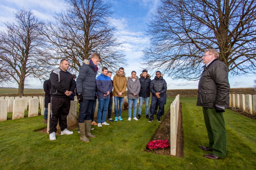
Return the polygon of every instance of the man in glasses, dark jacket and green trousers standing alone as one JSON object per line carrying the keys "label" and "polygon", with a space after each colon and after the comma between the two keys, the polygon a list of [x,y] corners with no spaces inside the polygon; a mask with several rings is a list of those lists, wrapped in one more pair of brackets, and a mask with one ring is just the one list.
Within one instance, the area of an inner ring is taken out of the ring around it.
{"label": "man in glasses, dark jacket and green trousers standing alone", "polygon": [[199,146],[202,150],[212,151],[205,154],[209,159],[224,158],[227,153],[227,133],[223,112],[229,107],[228,68],[218,60],[216,49],[206,49],[202,57],[204,70],[198,83],[197,106],[203,107],[209,145]]}

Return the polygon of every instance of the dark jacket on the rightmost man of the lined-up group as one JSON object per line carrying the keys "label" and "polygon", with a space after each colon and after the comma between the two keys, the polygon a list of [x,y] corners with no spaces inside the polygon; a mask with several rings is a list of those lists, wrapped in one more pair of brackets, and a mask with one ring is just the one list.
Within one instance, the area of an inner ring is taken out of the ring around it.
{"label": "dark jacket on the rightmost man of the lined-up group", "polygon": [[150,82],[150,91],[152,93],[152,96],[155,96],[156,93],[160,93],[161,97],[164,97],[164,93],[167,90],[166,81],[163,79],[163,77],[160,77],[159,79],[155,78]]}

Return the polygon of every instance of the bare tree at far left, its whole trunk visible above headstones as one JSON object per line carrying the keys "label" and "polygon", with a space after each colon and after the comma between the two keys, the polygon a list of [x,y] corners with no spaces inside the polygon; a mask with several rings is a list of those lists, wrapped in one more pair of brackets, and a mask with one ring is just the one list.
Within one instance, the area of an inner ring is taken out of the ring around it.
{"label": "bare tree at far left, its whole trunk visible above headstones", "polygon": [[44,23],[25,9],[14,17],[15,22],[4,23],[6,30],[0,32],[0,83],[10,86],[16,82],[21,97],[26,77],[45,78],[51,67],[45,63],[51,56],[44,49]]}

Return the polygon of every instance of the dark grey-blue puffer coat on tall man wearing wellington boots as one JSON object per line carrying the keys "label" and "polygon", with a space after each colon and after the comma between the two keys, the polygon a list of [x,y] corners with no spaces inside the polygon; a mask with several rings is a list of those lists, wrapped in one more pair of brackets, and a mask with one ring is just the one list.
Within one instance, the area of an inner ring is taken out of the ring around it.
{"label": "dark grey-blue puffer coat on tall man wearing wellington boots", "polygon": [[94,71],[89,60],[85,59],[83,62],[76,79],[77,93],[82,93],[83,99],[94,100],[97,72]]}

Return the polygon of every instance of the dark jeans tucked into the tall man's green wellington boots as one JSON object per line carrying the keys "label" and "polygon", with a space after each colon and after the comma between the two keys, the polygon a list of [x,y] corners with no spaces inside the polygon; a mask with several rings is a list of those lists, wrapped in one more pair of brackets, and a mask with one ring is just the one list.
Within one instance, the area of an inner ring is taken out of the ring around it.
{"label": "dark jeans tucked into the tall man's green wellington boots", "polygon": [[84,123],[84,121],[91,120],[92,106],[94,100],[86,100],[80,102],[78,123]]}

